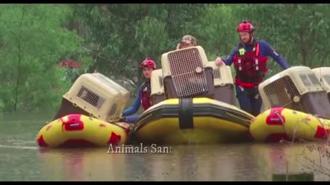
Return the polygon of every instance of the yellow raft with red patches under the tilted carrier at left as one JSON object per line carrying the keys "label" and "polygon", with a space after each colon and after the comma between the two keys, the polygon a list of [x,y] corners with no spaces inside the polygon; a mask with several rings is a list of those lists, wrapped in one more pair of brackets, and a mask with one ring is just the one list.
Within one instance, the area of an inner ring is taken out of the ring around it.
{"label": "yellow raft with red patches under the tilted carrier at left", "polygon": [[44,125],[36,134],[40,147],[109,147],[127,142],[128,123],[107,123],[83,114],[69,114]]}

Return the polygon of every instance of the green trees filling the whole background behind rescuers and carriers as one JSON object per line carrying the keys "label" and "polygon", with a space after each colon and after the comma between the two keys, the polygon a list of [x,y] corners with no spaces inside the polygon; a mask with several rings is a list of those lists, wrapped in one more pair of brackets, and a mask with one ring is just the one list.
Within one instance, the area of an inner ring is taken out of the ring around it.
{"label": "green trees filling the whole background behind rescuers and carriers", "polygon": [[[0,110],[52,110],[86,72],[137,87],[141,60],[148,56],[160,66],[162,53],[185,34],[197,38],[210,61],[225,57],[239,42],[235,27],[244,19],[290,66],[329,66],[329,10],[325,4],[1,5]],[[67,59],[82,66],[57,66]],[[268,63],[267,76],[281,71]]]}

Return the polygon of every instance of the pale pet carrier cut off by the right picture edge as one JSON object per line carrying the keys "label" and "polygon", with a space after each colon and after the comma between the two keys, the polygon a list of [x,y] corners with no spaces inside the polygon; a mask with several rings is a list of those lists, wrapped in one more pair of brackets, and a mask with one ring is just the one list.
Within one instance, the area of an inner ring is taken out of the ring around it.
{"label": "pale pet carrier cut off by the right picture edge", "polygon": [[330,67],[319,67],[312,69],[312,71],[314,71],[322,88],[327,91],[328,99],[330,101]]}

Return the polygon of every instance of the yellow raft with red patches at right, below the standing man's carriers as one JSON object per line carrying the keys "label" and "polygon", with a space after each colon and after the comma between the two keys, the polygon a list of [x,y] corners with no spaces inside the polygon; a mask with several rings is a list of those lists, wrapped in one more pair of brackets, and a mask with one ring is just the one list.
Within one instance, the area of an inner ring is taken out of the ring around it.
{"label": "yellow raft with red patches at right, below the standing man's carriers", "polygon": [[250,133],[259,142],[327,140],[330,120],[288,108],[271,108],[256,116]]}

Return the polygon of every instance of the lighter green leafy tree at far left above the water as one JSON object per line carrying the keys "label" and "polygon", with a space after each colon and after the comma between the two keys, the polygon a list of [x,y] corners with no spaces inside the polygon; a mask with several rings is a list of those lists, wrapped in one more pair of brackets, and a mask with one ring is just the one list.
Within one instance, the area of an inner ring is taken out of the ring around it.
{"label": "lighter green leafy tree at far left above the water", "polygon": [[[1,109],[54,109],[71,80],[57,62],[79,51],[82,38],[61,27],[66,5],[2,5],[0,7]],[[54,88],[59,88],[56,92]]]}

